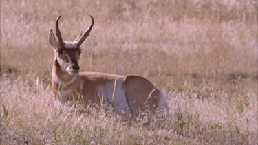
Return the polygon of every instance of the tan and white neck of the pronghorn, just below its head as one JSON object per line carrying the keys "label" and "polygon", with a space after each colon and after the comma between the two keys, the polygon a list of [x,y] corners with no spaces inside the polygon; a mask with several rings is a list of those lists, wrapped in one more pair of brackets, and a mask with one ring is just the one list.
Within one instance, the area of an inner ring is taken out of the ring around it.
{"label": "tan and white neck of the pronghorn, just below its head", "polygon": [[78,74],[70,75],[66,71],[63,71],[58,61],[56,59],[54,60],[52,69],[52,80],[54,80],[54,82],[56,82],[59,85],[67,86],[72,84],[77,77]]}

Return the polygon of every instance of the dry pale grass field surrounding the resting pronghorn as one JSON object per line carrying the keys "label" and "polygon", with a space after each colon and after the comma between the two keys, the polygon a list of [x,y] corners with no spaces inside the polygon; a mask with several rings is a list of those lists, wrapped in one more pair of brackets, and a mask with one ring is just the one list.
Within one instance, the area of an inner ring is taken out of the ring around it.
{"label": "dry pale grass field surrounding the resting pronghorn", "polygon": [[[2,1],[1,144],[258,144],[258,3]],[[104,106],[59,114],[51,92],[56,17],[72,41],[90,24],[80,68],[138,74],[169,113],[127,120]]]}

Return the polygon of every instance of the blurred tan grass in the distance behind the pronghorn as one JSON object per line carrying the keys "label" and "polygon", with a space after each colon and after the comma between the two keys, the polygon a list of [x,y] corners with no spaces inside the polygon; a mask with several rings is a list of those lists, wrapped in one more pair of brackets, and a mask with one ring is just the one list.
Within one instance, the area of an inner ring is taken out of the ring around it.
{"label": "blurred tan grass in the distance behind the pronghorn", "polygon": [[84,71],[257,78],[255,0],[1,1],[1,71],[49,77],[48,32],[60,14],[66,41],[94,16],[81,46]]}

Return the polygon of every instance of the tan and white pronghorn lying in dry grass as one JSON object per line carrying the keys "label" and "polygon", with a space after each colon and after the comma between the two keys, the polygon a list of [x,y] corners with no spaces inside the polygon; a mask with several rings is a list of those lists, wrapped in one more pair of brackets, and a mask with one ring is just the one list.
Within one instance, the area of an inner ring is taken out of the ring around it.
{"label": "tan and white pronghorn lying in dry grass", "polygon": [[166,100],[159,89],[142,76],[79,72],[80,45],[89,36],[94,25],[81,33],[74,41],[63,41],[56,19],[56,36],[50,29],[49,44],[54,50],[52,67],[52,91],[56,106],[71,106],[79,102],[86,107],[90,103],[104,102],[118,114],[137,115],[139,110],[166,111]]}

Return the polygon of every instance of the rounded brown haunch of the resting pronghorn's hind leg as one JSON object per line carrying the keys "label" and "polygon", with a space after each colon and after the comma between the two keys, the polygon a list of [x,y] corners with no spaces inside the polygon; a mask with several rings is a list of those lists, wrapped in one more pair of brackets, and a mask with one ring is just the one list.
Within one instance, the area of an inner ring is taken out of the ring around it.
{"label": "rounded brown haunch of the resting pronghorn's hind leg", "polygon": [[125,76],[123,87],[133,115],[137,115],[139,109],[155,111],[158,107],[160,90],[146,78],[134,75]]}

